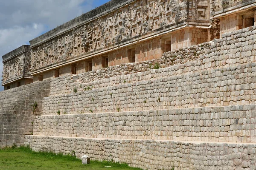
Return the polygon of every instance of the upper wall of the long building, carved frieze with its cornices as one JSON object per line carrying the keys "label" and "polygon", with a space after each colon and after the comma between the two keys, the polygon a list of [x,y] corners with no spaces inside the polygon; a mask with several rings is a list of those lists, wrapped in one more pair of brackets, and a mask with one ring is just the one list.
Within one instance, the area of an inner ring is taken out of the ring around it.
{"label": "upper wall of the long building, carved frieze with its cornices", "polygon": [[32,74],[189,25],[210,25],[209,0],[111,0],[31,40]]}

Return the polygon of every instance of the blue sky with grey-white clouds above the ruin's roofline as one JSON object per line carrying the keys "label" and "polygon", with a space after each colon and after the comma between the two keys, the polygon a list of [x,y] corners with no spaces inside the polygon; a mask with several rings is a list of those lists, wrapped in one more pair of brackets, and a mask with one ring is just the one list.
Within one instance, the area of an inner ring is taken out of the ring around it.
{"label": "blue sky with grey-white clouds above the ruin's roofline", "polygon": [[[0,2],[0,73],[2,56],[45,32],[110,0],[7,0]],[[0,75],[2,77],[2,75]],[[0,87],[0,91],[3,87]]]}

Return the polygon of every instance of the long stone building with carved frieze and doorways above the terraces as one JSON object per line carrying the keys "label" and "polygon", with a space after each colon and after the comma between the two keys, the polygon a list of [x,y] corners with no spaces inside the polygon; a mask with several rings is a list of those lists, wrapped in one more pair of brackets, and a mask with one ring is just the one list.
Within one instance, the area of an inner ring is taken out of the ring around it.
{"label": "long stone building with carved frieze and doorways above the terraces", "polygon": [[31,40],[32,75],[38,81],[55,71],[77,74],[142,62],[207,42],[209,8],[209,0],[111,0]]}

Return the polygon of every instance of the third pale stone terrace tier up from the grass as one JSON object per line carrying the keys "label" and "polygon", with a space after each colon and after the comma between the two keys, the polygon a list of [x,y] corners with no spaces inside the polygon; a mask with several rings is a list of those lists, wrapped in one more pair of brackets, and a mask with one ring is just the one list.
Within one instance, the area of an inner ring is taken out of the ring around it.
{"label": "third pale stone terrace tier up from the grass", "polygon": [[44,98],[44,115],[256,104],[256,63]]}

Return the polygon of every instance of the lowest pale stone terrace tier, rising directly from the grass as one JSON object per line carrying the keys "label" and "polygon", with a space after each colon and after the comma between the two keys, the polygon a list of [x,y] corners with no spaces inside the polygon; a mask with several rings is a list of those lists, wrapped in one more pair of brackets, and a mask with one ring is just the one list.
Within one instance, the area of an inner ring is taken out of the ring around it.
{"label": "lowest pale stone terrace tier, rising directly from the grass", "polygon": [[254,170],[256,144],[143,139],[25,136],[32,150],[84,154],[93,160],[125,162],[150,170]]}

